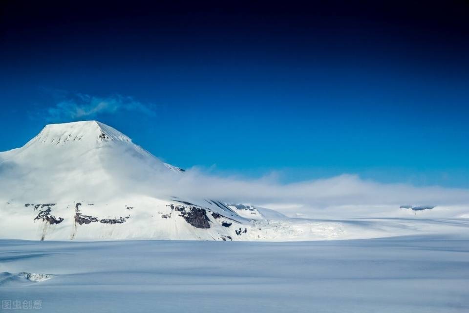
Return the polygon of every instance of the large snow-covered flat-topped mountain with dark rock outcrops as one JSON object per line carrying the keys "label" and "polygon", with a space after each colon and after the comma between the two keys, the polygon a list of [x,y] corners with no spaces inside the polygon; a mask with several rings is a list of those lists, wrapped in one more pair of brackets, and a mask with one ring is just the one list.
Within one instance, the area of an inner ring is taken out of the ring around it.
{"label": "large snow-covered flat-topped mountain with dark rock outcrops", "polygon": [[47,125],[23,147],[0,153],[0,238],[287,241],[434,227],[289,219],[252,204],[184,196],[188,185],[177,182],[186,177],[100,122]]}

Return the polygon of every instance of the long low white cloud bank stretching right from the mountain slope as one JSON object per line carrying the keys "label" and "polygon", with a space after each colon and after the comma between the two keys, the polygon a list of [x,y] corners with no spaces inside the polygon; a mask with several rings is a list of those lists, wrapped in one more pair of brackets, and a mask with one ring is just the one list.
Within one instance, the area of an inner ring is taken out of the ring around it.
{"label": "long low white cloud bank stretching right from the mountain slope", "polygon": [[416,187],[404,183],[379,183],[357,175],[341,175],[282,184],[267,176],[261,179],[217,177],[189,169],[167,188],[188,198],[204,195],[226,202],[249,202],[278,210],[290,217],[358,218],[413,216],[403,204],[436,205],[426,217],[469,217],[469,190],[439,186]]}

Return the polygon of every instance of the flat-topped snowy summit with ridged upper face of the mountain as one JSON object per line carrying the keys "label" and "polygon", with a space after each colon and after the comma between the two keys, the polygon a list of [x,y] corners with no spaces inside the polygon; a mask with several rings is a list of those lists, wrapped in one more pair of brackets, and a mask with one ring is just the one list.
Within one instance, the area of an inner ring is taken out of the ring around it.
{"label": "flat-topped snowy summit with ridged upper face of the mountain", "polygon": [[48,144],[66,144],[69,142],[122,141],[131,139],[114,128],[98,121],[81,121],[60,124],[48,124],[34,139],[34,142]]}

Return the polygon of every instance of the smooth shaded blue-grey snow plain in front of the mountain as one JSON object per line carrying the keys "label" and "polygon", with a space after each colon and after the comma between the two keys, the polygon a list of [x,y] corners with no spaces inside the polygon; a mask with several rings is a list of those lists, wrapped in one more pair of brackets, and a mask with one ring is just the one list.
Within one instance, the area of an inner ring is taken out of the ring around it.
{"label": "smooth shaded blue-grey snow plain in front of the mountain", "polygon": [[2,300],[39,300],[43,312],[469,312],[467,235],[0,240],[0,271]]}

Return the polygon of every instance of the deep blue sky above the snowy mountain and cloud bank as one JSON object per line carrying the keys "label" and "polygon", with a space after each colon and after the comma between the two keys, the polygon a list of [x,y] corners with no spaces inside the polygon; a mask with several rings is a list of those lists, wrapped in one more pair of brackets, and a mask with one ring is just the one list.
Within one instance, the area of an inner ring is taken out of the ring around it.
{"label": "deep blue sky above the snowy mountain and cloud bank", "polygon": [[2,2],[0,151],[64,99],[120,94],[155,113],[53,121],[96,119],[223,174],[469,187],[464,1],[161,3]]}

